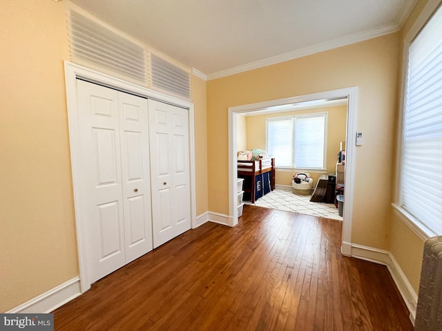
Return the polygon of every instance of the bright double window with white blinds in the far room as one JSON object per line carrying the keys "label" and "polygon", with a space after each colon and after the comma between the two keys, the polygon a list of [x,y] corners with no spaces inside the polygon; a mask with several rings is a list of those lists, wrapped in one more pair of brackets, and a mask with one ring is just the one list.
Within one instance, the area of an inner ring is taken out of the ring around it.
{"label": "bright double window with white blinds in the far room", "polygon": [[277,167],[325,169],[327,113],[267,120],[267,152]]}

